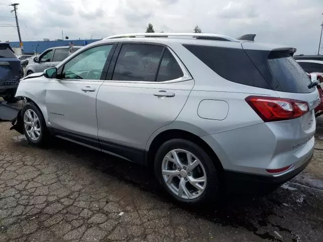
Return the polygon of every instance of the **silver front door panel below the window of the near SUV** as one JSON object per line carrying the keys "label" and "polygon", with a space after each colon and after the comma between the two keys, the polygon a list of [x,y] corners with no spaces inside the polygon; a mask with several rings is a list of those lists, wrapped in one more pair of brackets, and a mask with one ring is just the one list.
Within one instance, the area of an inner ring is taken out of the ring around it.
{"label": "silver front door panel below the window of the near SUV", "polygon": [[99,80],[52,79],[46,93],[50,126],[96,138],[95,97],[101,84]]}

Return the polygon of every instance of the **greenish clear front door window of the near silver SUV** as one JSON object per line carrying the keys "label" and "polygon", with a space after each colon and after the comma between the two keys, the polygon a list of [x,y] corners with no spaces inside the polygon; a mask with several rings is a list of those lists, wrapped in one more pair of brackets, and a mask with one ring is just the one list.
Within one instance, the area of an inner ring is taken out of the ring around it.
{"label": "greenish clear front door window of the near silver SUV", "polygon": [[76,55],[65,64],[63,78],[99,80],[112,47],[112,44],[96,46]]}

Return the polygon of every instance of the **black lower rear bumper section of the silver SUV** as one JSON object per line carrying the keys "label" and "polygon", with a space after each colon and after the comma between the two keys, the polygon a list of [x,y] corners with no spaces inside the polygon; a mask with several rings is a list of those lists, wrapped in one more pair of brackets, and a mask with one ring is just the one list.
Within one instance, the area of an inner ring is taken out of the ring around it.
{"label": "black lower rear bumper section of the silver SUV", "polygon": [[312,157],[313,152],[311,152],[298,167],[277,176],[225,170],[226,189],[231,193],[247,194],[265,192],[277,188],[305,169]]}

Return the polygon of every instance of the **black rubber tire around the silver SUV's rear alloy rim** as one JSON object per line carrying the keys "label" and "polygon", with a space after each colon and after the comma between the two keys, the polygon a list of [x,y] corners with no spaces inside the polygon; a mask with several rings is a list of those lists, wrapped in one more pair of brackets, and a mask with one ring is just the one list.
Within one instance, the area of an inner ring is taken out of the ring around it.
{"label": "black rubber tire around the silver SUV's rear alloy rim", "polygon": [[[205,172],[207,183],[204,192],[195,199],[183,199],[174,194],[168,186],[165,184],[163,175],[161,173],[162,163],[165,155],[174,149],[183,149],[189,151],[193,155],[195,155],[200,162],[202,163]],[[211,161],[210,157],[207,153],[198,145],[194,144],[191,141],[184,139],[173,139],[165,142],[161,145],[156,152],[154,158],[154,172],[157,180],[161,187],[170,194],[176,202],[180,202],[185,205],[201,205],[201,204],[210,204],[217,199],[217,195],[219,195],[219,176],[216,169],[216,166]]]}

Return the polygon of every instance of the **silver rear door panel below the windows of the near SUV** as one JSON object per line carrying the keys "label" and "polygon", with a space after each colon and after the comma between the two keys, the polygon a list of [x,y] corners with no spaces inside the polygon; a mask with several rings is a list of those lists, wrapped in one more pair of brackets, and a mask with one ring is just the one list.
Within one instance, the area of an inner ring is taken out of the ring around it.
{"label": "silver rear door panel below the windows of the near SUV", "polygon": [[96,99],[99,140],[144,149],[155,130],[176,119],[193,86],[193,79],[149,84],[105,81]]}

